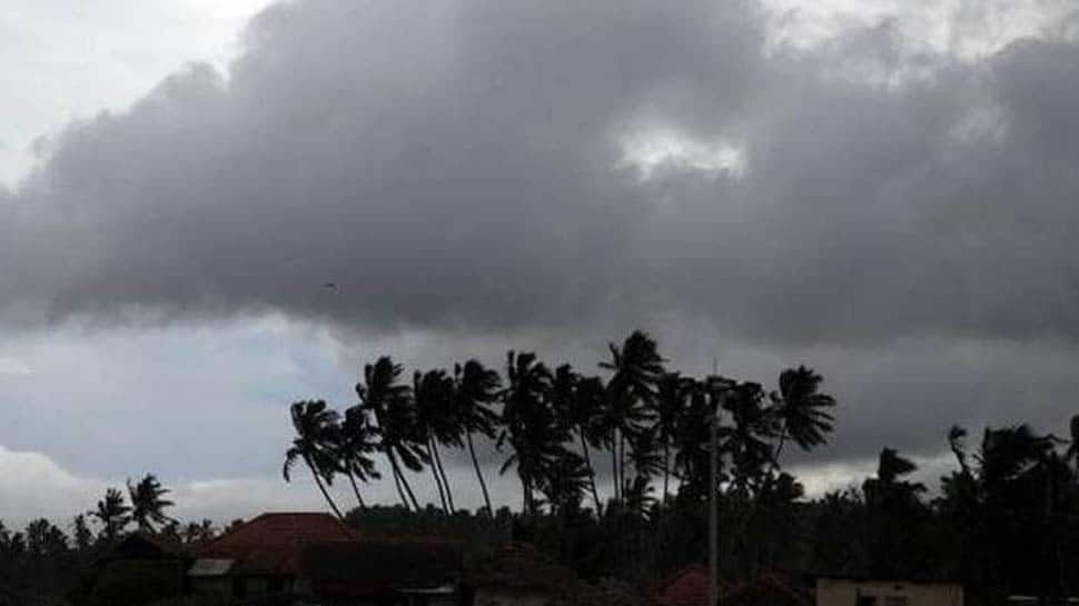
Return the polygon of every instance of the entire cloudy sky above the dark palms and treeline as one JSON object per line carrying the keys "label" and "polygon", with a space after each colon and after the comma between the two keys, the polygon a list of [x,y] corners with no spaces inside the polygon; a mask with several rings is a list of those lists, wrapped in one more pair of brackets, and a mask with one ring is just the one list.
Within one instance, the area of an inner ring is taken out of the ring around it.
{"label": "entire cloudy sky above the dark palms and treeline", "polygon": [[805,364],[810,494],[1079,413],[1077,2],[13,0],[0,74],[9,524],[318,508],[288,404],[383,354]]}

